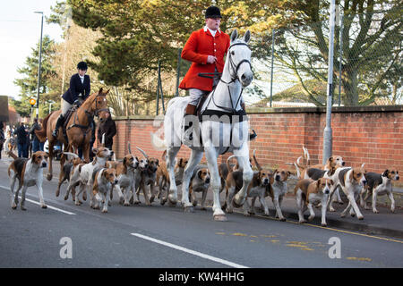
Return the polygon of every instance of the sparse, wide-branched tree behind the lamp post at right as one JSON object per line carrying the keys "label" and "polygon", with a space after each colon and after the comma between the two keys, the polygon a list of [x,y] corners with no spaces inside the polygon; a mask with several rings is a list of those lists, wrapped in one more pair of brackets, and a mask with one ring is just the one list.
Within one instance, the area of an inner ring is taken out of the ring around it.
{"label": "sparse, wide-branched tree behind the lamp post at right", "polygon": [[[402,10],[399,2],[340,0],[339,4],[343,12],[343,31],[341,33],[339,26],[335,29],[333,79],[335,83],[339,80],[341,38],[343,104],[368,105],[390,96],[396,102],[401,87]],[[295,83],[304,88],[305,98],[322,105],[316,100],[319,95],[304,81],[327,81],[329,1],[309,1],[300,9],[304,12],[304,21],[313,23],[277,30],[274,55],[280,67],[293,71]],[[270,33],[263,38],[271,42]],[[267,58],[267,46],[261,46],[258,51]]]}

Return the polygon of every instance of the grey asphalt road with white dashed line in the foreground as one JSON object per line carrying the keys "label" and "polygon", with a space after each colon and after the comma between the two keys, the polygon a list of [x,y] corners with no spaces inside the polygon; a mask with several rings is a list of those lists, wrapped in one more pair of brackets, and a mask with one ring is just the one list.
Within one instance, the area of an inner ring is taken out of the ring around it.
{"label": "grey asphalt road with white dashed line in the foreground", "polygon": [[[34,203],[38,190],[31,187],[28,210],[13,210],[8,164],[0,162],[0,267],[403,266],[403,241],[393,238],[236,213],[214,222],[210,209],[184,213],[158,200],[153,206],[120,206],[116,195],[102,214],[88,202],[64,201],[65,184],[56,198],[57,176],[43,184],[47,209]],[[330,258],[329,252],[337,254],[330,240],[339,241],[339,258]],[[70,246],[71,252],[65,250]],[[66,254],[71,258],[62,258]]]}

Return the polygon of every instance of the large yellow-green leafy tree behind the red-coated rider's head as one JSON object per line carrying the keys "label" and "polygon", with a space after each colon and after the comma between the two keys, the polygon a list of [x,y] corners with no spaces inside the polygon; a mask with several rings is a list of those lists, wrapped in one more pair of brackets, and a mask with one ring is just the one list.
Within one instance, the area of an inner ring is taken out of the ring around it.
{"label": "large yellow-green leafy tree behind the red-coated rider's head", "polygon": [[[284,9],[298,1],[216,2],[224,18],[221,29],[226,31],[235,27],[259,31],[272,22],[297,18],[297,13],[287,15]],[[99,79],[109,85],[127,85],[144,92],[141,81],[145,75],[155,73],[159,61],[163,71],[176,71],[177,48],[184,46],[193,30],[204,25],[203,10],[211,1],[69,0],[68,3],[78,25],[102,33],[93,50],[99,61],[91,63],[99,71]]]}

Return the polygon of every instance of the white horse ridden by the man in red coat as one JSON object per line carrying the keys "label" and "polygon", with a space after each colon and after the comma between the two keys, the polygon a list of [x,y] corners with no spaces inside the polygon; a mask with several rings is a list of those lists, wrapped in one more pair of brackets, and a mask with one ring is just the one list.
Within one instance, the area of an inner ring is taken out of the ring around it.
{"label": "white horse ridden by the man in red coat", "polygon": [[[244,205],[246,190],[253,178],[253,171],[249,164],[249,125],[246,114],[240,106],[242,90],[253,80],[251,70],[251,50],[247,43],[251,38],[250,31],[246,31],[244,38],[238,39],[238,33],[234,30],[231,34],[231,42],[227,51],[227,59],[224,70],[215,90],[210,92],[209,97],[201,106],[203,120],[199,122],[198,117],[193,120],[193,128],[200,124],[199,128],[193,130],[193,145],[188,164],[184,169],[184,180],[182,183],[182,204],[184,209],[193,210],[189,201],[189,182],[194,168],[200,163],[203,152],[205,153],[208,168],[210,171],[210,187],[214,195],[213,217],[217,221],[226,221],[227,217],[222,211],[219,203],[219,169],[217,158],[220,154],[233,152],[238,159],[241,168],[244,169],[244,185],[236,194],[233,205],[240,207]],[[164,118],[165,144],[167,148],[167,171],[169,173],[170,187],[168,200],[171,205],[176,205],[177,188],[175,182],[175,161],[176,154],[182,145],[181,128],[184,118],[184,108],[188,104],[189,97],[175,97],[167,106],[167,114]],[[214,116],[214,114],[217,114]],[[213,116],[211,116],[213,115]],[[233,116],[234,115],[234,116]],[[191,115],[187,115],[191,116]],[[220,117],[220,121],[214,121]],[[231,121],[232,119],[232,121]],[[201,133],[201,134],[200,134]],[[199,139],[201,138],[202,144]],[[161,141],[156,141],[155,146],[161,146]]]}

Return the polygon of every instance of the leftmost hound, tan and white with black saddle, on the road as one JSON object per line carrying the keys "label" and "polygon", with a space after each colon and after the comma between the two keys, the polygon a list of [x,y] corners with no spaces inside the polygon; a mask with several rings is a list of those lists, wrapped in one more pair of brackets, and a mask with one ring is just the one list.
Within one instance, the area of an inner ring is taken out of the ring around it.
{"label": "leftmost hound, tan and white with black saddle, on the road", "polygon": [[[13,154],[8,153],[13,157],[14,161],[8,167],[8,176],[10,177],[10,190],[11,190],[11,206],[13,209],[18,205],[18,193],[21,189],[21,210],[27,210],[24,206],[25,193],[28,187],[36,185],[39,193],[40,206],[47,208],[43,199],[43,168],[47,167],[47,153],[43,151],[37,151],[32,154],[30,159],[19,158]],[[18,179],[19,185],[17,191],[14,193],[14,184]]]}

